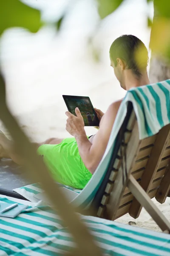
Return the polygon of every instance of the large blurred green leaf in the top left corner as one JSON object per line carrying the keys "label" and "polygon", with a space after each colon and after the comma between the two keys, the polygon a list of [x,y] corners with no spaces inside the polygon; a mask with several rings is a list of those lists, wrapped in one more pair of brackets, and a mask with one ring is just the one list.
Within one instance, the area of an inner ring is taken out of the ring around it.
{"label": "large blurred green leaf in the top left corner", "polygon": [[23,27],[37,32],[41,26],[40,11],[19,0],[0,0],[0,35],[11,27]]}

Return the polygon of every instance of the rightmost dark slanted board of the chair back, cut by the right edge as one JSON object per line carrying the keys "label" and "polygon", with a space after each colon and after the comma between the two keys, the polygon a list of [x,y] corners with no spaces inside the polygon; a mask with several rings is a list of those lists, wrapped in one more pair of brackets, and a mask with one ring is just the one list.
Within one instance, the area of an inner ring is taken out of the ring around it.
{"label": "rightmost dark slanted board of the chair back, cut by the right edge", "polygon": [[160,187],[156,193],[156,200],[163,204],[170,191],[170,165],[167,167],[164,177],[161,180]]}

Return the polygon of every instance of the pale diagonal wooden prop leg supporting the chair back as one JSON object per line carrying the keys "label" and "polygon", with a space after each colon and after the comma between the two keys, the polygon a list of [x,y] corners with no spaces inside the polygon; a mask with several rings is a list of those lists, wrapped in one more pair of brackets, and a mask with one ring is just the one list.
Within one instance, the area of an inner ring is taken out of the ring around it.
{"label": "pale diagonal wooden prop leg supporting the chair back", "polygon": [[167,220],[167,218],[165,218],[159,208],[156,207],[156,205],[153,203],[144,189],[142,189],[142,187],[136,182],[132,175],[129,177],[127,186],[130,188],[132,194],[136,197],[136,200],[142,204],[161,230],[170,230],[170,222]]}

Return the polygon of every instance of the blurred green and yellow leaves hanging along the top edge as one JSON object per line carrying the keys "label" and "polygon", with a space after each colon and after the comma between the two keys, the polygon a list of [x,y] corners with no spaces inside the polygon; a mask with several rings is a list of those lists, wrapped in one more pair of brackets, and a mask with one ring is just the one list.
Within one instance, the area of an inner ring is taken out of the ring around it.
{"label": "blurred green and yellow leaves hanging along the top edge", "polygon": [[[112,14],[125,1],[96,0],[100,18],[103,19]],[[170,0],[146,0],[146,3],[149,4],[150,2],[154,3],[153,22],[150,17],[146,16],[147,25],[152,28],[150,49],[156,54],[170,59]],[[57,31],[61,29],[68,12],[69,8],[55,23]],[[42,25],[40,11],[27,6],[20,0],[0,0],[0,35],[5,29],[11,27],[23,27],[31,32],[37,32]],[[98,53],[95,52],[94,55],[95,59],[99,59]]]}

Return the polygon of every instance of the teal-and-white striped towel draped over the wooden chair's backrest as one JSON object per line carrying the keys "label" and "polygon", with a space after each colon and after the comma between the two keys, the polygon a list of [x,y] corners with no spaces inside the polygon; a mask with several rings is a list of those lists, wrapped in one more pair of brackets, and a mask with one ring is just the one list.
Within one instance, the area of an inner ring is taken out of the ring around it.
{"label": "teal-and-white striped towel draped over the wooden chair's backrest", "polygon": [[112,157],[117,134],[127,114],[129,102],[132,102],[136,113],[139,138],[144,139],[158,133],[163,126],[170,123],[170,80],[133,88],[127,92],[117,113],[108,146],[99,166],[85,188],[72,201],[78,207],[88,208],[100,188]]}

